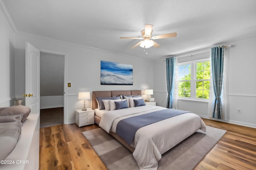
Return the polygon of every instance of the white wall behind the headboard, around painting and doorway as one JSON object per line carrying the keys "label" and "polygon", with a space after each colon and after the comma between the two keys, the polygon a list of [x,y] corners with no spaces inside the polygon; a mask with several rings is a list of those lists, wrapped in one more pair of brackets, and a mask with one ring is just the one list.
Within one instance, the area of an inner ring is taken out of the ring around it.
{"label": "white wall behind the headboard, around painting and doorway", "polygon": [[[153,88],[153,61],[132,56],[122,56],[108,51],[53,41],[45,38],[17,34],[15,43],[16,95],[22,96],[25,90],[25,42],[28,41],[41,51],[55,51],[65,55],[66,64],[66,123],[75,122],[75,110],[83,107],[78,101],[78,92],[95,90],[140,90]],[[133,65],[133,85],[100,85],[100,61],[114,61]],[[67,87],[71,83],[71,87]],[[91,107],[90,101],[86,107]],[[65,113],[64,113],[65,114]]]}

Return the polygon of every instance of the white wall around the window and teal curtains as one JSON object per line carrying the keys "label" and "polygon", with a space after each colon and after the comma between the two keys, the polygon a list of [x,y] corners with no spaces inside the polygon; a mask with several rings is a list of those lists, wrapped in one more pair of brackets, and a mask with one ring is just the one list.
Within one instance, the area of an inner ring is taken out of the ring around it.
{"label": "white wall around the window and teal curtains", "polygon": [[[225,43],[235,47],[226,49],[226,105],[227,122],[256,127],[256,37]],[[200,51],[210,50],[210,48]],[[198,51],[190,52],[196,53]],[[183,54],[181,54],[183,55]],[[180,55],[180,56],[181,56]],[[202,59],[209,52],[178,58],[180,62]],[[178,56],[176,56],[178,57]],[[154,61],[154,98],[158,106],[166,107],[166,70],[165,62]],[[164,101],[162,103],[162,101]],[[237,109],[242,113],[237,113]],[[208,117],[208,102],[178,100],[178,109],[188,110],[202,117]]]}

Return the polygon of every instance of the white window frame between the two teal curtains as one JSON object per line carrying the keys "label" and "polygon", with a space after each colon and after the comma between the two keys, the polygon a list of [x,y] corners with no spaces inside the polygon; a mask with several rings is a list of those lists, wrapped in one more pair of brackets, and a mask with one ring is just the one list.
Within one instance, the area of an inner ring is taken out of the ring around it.
{"label": "white window frame between the two teal curtains", "polygon": [[[209,102],[209,99],[196,98],[196,82],[200,81],[200,80],[196,79],[196,63],[201,63],[201,62],[205,62],[205,61],[210,62],[210,58],[178,63],[178,67],[180,65],[185,65],[185,64],[190,64],[190,66],[191,66],[191,80],[186,80],[186,81],[190,81],[190,97],[178,96],[177,97],[178,100],[193,100],[193,101],[200,101],[200,102]],[[177,72],[178,72],[178,68],[177,68]],[[179,72],[177,75],[179,75]],[[210,75],[211,75],[211,69],[210,69]],[[208,80],[210,81],[210,79],[202,79],[202,81],[208,81]],[[177,77],[177,83],[176,83],[177,93],[178,93],[178,88],[179,88],[178,87],[179,82],[184,82],[184,80],[180,81],[179,77]]]}

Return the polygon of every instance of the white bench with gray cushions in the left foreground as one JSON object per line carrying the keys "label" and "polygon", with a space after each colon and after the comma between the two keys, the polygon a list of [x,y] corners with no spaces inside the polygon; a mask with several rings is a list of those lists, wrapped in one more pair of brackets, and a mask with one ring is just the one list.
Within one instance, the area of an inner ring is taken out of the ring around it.
{"label": "white bench with gray cushions in the left foreground", "polygon": [[0,108],[0,170],[38,169],[39,123],[26,106]]}

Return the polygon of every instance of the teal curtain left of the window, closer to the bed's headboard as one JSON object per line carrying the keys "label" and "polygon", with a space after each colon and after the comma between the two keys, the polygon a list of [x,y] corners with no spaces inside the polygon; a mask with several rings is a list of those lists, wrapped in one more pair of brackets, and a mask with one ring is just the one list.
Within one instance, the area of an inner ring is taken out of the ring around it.
{"label": "teal curtain left of the window, closer to the bed's headboard", "polygon": [[174,80],[175,80],[175,57],[166,59],[166,82],[167,82],[167,105],[166,108],[172,108],[174,98]]}

